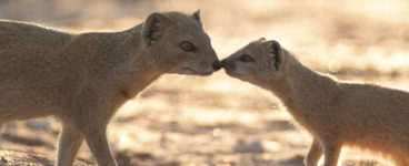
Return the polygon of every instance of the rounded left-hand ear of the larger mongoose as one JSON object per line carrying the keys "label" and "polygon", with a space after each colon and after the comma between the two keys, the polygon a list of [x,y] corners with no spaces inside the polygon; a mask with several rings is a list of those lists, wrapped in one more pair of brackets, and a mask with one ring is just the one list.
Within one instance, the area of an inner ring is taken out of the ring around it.
{"label": "rounded left-hand ear of the larger mongoose", "polygon": [[158,12],[151,13],[143,23],[142,28],[143,42],[148,46],[153,45],[156,42],[160,40],[166,29],[174,24],[176,22],[173,22],[170,18],[161,13]]}

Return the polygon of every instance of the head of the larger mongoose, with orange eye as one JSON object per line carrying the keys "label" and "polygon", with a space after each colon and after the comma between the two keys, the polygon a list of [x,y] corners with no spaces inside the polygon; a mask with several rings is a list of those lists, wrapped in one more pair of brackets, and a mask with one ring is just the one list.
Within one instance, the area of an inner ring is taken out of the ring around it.
{"label": "head of the larger mongoose, with orange eye", "polygon": [[142,44],[163,73],[209,75],[221,63],[203,31],[200,11],[152,13],[143,23]]}

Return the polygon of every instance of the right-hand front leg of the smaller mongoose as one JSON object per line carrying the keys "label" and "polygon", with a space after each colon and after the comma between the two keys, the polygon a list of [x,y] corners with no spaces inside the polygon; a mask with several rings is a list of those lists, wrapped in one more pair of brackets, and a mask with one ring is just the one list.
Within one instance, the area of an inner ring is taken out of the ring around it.
{"label": "right-hand front leg of the smaller mongoose", "polygon": [[341,145],[337,143],[323,144],[323,166],[337,166],[341,153]]}

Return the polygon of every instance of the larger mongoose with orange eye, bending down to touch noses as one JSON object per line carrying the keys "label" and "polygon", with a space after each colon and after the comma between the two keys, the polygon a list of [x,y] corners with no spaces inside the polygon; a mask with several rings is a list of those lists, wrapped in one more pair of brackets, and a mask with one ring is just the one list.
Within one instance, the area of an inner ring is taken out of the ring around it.
{"label": "larger mongoose with orange eye, bending down to touch noses", "polygon": [[166,73],[209,75],[221,63],[199,11],[151,13],[118,32],[69,33],[0,21],[0,124],[54,116],[57,165],[86,139],[98,165],[117,165],[106,136],[117,108]]}

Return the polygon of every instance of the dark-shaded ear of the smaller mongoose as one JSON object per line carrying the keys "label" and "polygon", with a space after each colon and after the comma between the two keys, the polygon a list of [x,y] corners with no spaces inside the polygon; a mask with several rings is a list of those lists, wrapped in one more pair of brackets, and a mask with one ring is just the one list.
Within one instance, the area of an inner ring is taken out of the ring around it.
{"label": "dark-shaded ear of the smaller mongoose", "polygon": [[275,40],[270,40],[265,42],[267,46],[267,52],[269,56],[269,64],[271,64],[276,71],[278,71],[283,62],[283,51],[280,45]]}

